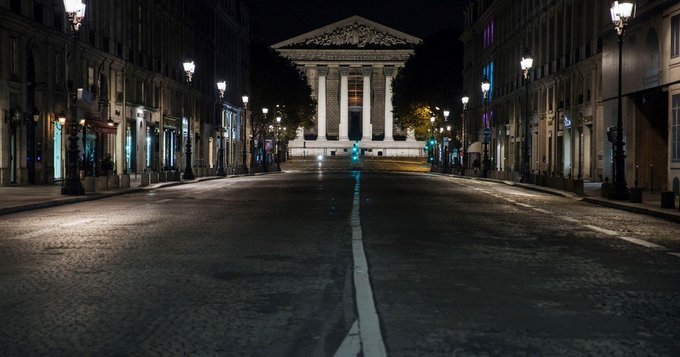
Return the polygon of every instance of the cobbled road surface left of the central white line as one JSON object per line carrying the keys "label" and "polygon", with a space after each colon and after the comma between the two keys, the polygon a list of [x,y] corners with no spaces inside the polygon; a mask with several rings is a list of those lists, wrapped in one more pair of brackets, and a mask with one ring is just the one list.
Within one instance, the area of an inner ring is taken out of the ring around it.
{"label": "cobbled road surface left of the central white line", "polygon": [[0,217],[0,355],[332,355],[355,320],[353,184],[216,180]]}

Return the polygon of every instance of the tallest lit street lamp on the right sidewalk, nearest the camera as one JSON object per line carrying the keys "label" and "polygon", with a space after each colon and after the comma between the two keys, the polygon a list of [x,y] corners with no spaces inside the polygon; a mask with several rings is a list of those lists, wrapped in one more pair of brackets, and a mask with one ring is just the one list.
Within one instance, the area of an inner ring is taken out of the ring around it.
{"label": "tallest lit street lamp on the right sidewalk, nearest the camera", "polygon": [[616,29],[619,43],[619,88],[618,88],[618,102],[616,115],[616,141],[614,142],[614,187],[609,192],[609,199],[613,200],[627,200],[630,197],[628,187],[626,185],[626,152],[624,150],[623,142],[623,110],[621,106],[621,77],[622,69],[621,62],[623,57],[623,36],[626,34],[626,25],[628,20],[635,17],[635,2],[634,1],[614,1],[610,9],[612,15],[612,22]]}

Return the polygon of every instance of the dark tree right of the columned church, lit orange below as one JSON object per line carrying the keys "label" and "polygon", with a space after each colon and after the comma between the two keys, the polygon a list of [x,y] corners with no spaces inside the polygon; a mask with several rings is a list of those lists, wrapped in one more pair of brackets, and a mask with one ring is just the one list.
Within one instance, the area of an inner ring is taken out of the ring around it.
{"label": "dark tree right of the columned church, lit orange below", "polygon": [[458,124],[453,118],[462,110],[463,48],[459,37],[459,30],[449,29],[425,39],[392,82],[395,122],[414,129],[419,140],[431,135],[430,117],[435,116],[436,127],[443,122],[445,109],[451,112],[449,121],[454,128]]}

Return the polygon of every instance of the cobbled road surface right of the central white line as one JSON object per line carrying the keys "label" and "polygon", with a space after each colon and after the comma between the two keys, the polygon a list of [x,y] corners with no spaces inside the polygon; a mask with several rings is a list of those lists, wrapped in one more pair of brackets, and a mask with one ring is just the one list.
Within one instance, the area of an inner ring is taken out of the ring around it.
{"label": "cobbled road surface right of the central white line", "polygon": [[361,198],[390,356],[680,353],[676,223],[431,175]]}

